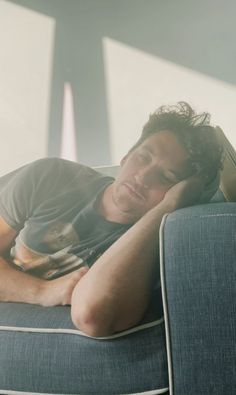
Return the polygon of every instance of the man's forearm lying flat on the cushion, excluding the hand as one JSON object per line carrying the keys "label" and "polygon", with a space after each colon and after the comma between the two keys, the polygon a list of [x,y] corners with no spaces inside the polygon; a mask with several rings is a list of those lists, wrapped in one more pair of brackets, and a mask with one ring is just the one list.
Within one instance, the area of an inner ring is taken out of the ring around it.
{"label": "man's forearm lying flat on the cushion, excluding the hand", "polygon": [[44,280],[12,268],[0,257],[0,301],[42,304]]}

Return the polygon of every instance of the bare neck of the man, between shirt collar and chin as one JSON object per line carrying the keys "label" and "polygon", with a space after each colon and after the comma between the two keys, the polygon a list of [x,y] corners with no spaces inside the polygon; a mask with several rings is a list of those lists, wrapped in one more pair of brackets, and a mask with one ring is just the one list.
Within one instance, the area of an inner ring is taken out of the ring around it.
{"label": "bare neck of the man, between shirt collar and chin", "polygon": [[132,224],[137,221],[129,213],[119,210],[115,204],[112,196],[113,184],[108,185],[103,194],[99,197],[96,204],[97,212],[102,215],[107,221],[116,222],[119,224]]}

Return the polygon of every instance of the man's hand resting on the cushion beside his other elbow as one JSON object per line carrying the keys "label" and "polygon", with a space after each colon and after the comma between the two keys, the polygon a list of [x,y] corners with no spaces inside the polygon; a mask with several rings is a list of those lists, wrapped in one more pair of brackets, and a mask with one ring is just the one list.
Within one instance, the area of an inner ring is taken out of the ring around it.
{"label": "man's hand resting on the cushion beside his other elbow", "polygon": [[70,305],[72,292],[80,279],[88,272],[88,267],[69,273],[51,281],[45,281],[41,289],[42,306]]}

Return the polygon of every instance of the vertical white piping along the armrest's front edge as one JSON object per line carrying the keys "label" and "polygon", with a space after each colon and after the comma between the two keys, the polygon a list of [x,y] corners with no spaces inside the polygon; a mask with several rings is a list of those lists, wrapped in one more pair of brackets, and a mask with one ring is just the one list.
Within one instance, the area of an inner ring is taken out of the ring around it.
{"label": "vertical white piping along the armrest's front edge", "polygon": [[168,308],[166,300],[166,287],[165,287],[165,274],[164,274],[164,226],[166,223],[168,214],[165,214],[162,218],[160,230],[159,230],[159,245],[160,245],[160,277],[161,277],[161,293],[162,303],[164,310],[165,320],[165,336],[166,336],[166,349],[167,349],[167,365],[168,365],[168,377],[169,377],[169,391],[170,395],[173,395],[173,370],[172,370],[172,357],[171,357],[171,344],[170,344],[170,327],[168,319]]}

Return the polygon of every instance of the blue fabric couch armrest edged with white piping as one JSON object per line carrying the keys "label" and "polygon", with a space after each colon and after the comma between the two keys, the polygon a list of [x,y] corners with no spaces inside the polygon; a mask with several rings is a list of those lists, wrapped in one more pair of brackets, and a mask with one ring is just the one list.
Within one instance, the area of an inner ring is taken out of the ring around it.
{"label": "blue fabric couch armrest edged with white piping", "polygon": [[160,232],[170,395],[236,393],[236,203],[167,215]]}

